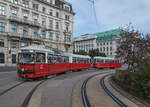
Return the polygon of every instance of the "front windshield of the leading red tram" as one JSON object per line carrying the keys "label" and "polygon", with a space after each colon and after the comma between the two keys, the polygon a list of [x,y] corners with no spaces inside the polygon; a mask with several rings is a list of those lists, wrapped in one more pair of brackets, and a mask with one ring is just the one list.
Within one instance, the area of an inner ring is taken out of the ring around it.
{"label": "front windshield of the leading red tram", "polygon": [[20,53],[19,54],[19,63],[34,63],[35,57],[33,53]]}

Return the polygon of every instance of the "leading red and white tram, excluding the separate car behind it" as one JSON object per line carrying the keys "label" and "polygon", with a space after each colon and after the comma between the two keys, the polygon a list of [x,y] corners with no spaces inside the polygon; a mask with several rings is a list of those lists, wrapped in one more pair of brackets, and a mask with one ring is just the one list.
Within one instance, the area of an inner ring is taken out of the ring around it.
{"label": "leading red and white tram, excluding the separate car behind it", "polygon": [[55,54],[40,45],[21,48],[18,53],[18,76],[21,78],[46,77],[61,72],[89,68],[89,56]]}

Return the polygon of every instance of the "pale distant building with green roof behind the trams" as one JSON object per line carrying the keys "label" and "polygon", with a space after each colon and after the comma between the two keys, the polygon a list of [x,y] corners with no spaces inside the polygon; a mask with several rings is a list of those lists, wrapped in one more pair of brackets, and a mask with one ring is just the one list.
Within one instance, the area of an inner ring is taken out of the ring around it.
{"label": "pale distant building with green roof behind the trams", "polygon": [[[99,49],[99,52],[105,53],[106,56],[115,57],[117,47],[120,44],[121,38],[124,36],[123,34],[123,30],[114,29],[80,36],[73,42],[74,51],[79,52],[80,50],[84,50],[85,52],[89,52],[89,50],[92,49]],[[89,45],[89,41],[91,41],[92,45]],[[90,46],[92,46],[92,48]]]}

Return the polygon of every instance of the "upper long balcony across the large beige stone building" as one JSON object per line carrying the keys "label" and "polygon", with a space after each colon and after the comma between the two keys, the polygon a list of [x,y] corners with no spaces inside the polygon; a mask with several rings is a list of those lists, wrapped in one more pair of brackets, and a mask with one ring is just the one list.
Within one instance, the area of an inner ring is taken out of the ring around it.
{"label": "upper long balcony across the large beige stone building", "polygon": [[27,25],[30,25],[30,26],[41,27],[40,23],[38,23],[36,21],[28,20],[27,18],[19,18],[19,17],[10,16],[9,20],[11,22],[17,22],[17,23],[20,23],[20,24],[27,24]]}

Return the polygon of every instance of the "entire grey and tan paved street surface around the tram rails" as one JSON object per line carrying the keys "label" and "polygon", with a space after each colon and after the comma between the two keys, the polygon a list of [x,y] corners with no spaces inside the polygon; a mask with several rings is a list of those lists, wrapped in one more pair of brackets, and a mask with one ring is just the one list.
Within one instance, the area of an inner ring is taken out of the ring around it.
{"label": "entire grey and tan paved street surface around the tram rails", "polygon": [[[48,79],[34,92],[29,102],[29,107],[83,107],[81,97],[81,85],[83,81],[91,75],[102,72],[110,72],[110,70],[82,70],[80,72],[61,74],[55,78]],[[92,107],[117,107],[118,105],[100,88],[99,79],[102,76],[103,74],[96,76],[96,78],[91,79],[87,84],[90,103]],[[0,73],[0,92],[20,82],[16,72]],[[27,94],[39,82],[25,82],[0,96],[0,107],[21,106]]]}

